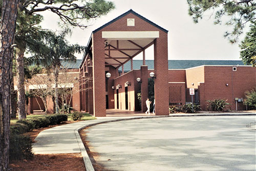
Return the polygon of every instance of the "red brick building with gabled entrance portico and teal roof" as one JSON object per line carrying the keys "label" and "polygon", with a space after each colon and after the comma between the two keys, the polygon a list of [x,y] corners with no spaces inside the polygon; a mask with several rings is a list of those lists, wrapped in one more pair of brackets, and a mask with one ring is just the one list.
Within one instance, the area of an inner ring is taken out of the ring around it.
{"label": "red brick building with gabled entrance portico and teal roof", "polygon": [[[133,10],[93,31],[86,53],[77,60],[80,84],[76,88],[81,91],[72,98],[74,110],[95,116],[105,116],[106,108],[145,112],[150,72],[155,73],[156,115],[168,115],[169,105],[190,102],[189,88],[195,88],[194,102],[203,109],[207,100],[215,99],[227,100],[231,110],[245,109],[244,93],[256,86],[255,67],[241,61],[168,61],[167,33]],[[151,45],[154,60],[145,60],[145,49]],[[133,60],[139,53],[143,60]]]}

